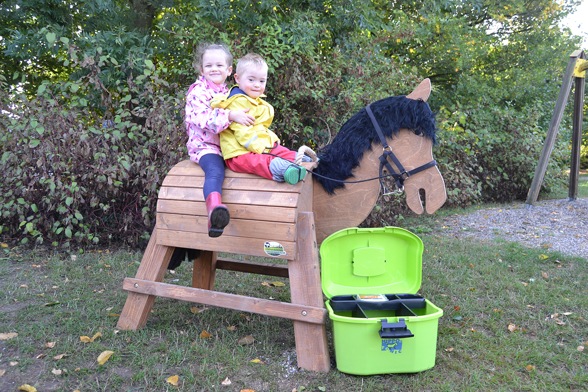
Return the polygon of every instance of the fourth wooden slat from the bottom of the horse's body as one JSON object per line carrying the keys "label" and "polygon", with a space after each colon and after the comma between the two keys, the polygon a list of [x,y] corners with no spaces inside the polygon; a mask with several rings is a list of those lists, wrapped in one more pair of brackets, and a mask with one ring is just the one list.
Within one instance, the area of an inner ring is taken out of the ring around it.
{"label": "fourth wooden slat from the bottom of the horse's body", "polygon": [[[199,188],[179,188],[162,186],[159,189],[160,200],[186,200],[203,202],[204,195]],[[298,193],[259,192],[255,190],[225,190],[223,204],[246,204],[258,206],[296,208]]]}

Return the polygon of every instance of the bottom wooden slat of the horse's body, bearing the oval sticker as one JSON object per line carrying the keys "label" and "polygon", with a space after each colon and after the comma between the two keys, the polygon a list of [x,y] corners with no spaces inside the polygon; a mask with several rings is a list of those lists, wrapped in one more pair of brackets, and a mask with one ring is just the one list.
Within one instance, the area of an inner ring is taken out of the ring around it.
{"label": "bottom wooden slat of the horse's body, bearing the oval sticker", "polygon": [[[259,239],[230,237],[225,235],[211,238],[208,234],[203,233],[157,230],[157,243],[160,245],[269,257],[263,250],[265,241],[266,240],[263,239],[263,233],[260,233]],[[282,244],[286,254],[280,255],[276,257],[276,259],[292,260],[296,250],[295,243],[283,241],[280,242],[280,244]]]}

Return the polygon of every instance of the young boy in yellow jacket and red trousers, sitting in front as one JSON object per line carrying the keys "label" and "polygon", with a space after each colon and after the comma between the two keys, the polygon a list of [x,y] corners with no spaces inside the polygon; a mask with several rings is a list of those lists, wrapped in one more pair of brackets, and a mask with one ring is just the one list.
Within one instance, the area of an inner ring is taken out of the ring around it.
{"label": "young boy in yellow jacket and red trousers, sitting in front", "polygon": [[253,173],[295,184],[306,176],[306,169],[293,163],[296,152],[281,146],[278,136],[269,130],[273,106],[261,98],[265,97],[267,79],[267,63],[261,56],[249,53],[237,62],[235,81],[238,86],[233,86],[228,96],[212,99],[212,108],[250,109],[248,114],[255,117],[254,125],[232,122],[220,132],[220,149],[226,166],[233,172]]}

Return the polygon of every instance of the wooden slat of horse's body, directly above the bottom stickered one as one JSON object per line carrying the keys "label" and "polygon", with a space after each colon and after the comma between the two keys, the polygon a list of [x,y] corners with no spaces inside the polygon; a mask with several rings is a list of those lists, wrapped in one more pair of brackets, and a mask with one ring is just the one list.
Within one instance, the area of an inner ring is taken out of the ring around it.
{"label": "wooden slat of horse's body, directly above the bottom stickered one", "polygon": [[[208,233],[206,216],[161,214],[157,215],[157,227],[162,230]],[[231,219],[223,230],[223,236],[259,238],[272,241],[296,239],[293,223],[263,222],[260,220]]]}

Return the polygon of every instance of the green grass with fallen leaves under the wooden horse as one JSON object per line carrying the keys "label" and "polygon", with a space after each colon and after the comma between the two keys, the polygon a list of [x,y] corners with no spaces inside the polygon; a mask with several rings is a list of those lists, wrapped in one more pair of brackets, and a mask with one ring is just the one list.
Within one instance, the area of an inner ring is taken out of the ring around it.
{"label": "green grass with fallen leaves under the wooden horse", "polygon": [[[0,370],[6,371],[0,391],[22,384],[39,391],[586,390],[587,353],[577,350],[586,345],[588,351],[586,260],[558,253],[542,260],[544,250],[505,242],[421,237],[420,294],[444,311],[436,365],[417,374],[374,376],[350,376],[335,366],[329,373],[297,370],[292,322],[275,317],[222,308],[193,314],[195,304],[158,298],[145,328],[117,330],[112,314],[126,300],[122,280],[135,275],[141,253],[90,252],[72,260],[68,254],[6,250],[0,260],[0,333],[18,336],[0,340]],[[191,275],[185,263],[164,282],[189,285]],[[287,279],[285,287],[261,284],[274,280],[218,271],[216,287],[289,300]],[[564,324],[552,319],[555,313]],[[509,332],[509,324],[517,329]],[[212,337],[201,338],[203,330]],[[81,342],[80,336],[98,331],[102,336],[92,343]],[[255,343],[239,346],[248,335]],[[53,341],[54,347],[45,346]],[[114,354],[101,366],[96,358],[105,350]],[[67,356],[55,360],[59,354]],[[179,387],[166,383],[174,375]],[[226,377],[230,386],[220,384]]]}

